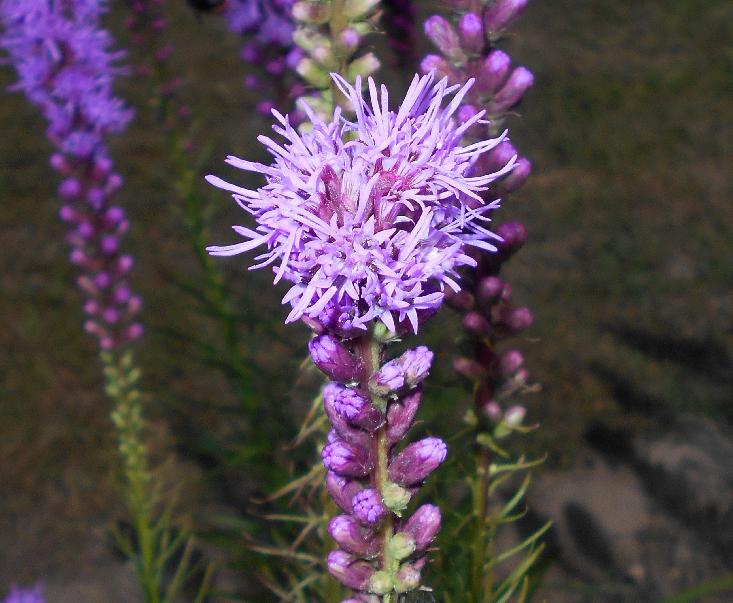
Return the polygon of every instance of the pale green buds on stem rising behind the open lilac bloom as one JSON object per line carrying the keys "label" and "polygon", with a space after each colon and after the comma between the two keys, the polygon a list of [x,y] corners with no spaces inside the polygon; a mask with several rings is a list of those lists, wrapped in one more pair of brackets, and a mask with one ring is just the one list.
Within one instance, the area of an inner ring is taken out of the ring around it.
{"label": "pale green buds on stem rising behind the open lilac bloom", "polygon": [[306,52],[295,70],[314,91],[302,99],[325,122],[331,121],[337,106],[353,113],[353,106],[329,73],[339,73],[353,84],[358,76],[366,81],[380,67],[374,53],[362,51],[364,38],[377,31],[379,1],[299,0],[292,7],[292,16],[299,23],[293,40]]}

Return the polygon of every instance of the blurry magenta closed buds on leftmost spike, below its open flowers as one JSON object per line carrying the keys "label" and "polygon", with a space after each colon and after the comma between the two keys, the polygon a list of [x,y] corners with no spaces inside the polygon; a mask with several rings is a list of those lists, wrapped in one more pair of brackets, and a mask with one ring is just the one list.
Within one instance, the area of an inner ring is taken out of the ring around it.
{"label": "blurry magenta closed buds on leftmost spike, below its open flowers", "polygon": [[66,179],[59,185],[65,204],[62,220],[73,225],[67,241],[70,260],[81,268],[78,286],[88,296],[84,330],[97,337],[101,349],[111,350],[138,339],[143,328],[132,322],[142,302],[130,292],[128,276],[133,258],[119,253],[119,241],[130,227],[121,207],[111,204],[122,177],[106,157],[89,159],[51,156],[51,166]]}

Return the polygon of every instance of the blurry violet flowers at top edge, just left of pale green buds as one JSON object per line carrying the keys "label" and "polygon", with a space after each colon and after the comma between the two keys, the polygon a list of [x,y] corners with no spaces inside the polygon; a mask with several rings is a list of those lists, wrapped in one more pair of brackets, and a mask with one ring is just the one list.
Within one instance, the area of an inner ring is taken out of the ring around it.
{"label": "blurry violet flowers at top edge, just left of pale green buds", "polygon": [[268,95],[255,107],[264,116],[273,108],[289,110],[292,101],[305,92],[302,84],[292,81],[295,67],[305,56],[292,40],[293,4],[295,0],[229,0],[224,7],[229,29],[247,37],[243,61],[264,70],[259,77],[250,73],[244,79],[246,88]]}

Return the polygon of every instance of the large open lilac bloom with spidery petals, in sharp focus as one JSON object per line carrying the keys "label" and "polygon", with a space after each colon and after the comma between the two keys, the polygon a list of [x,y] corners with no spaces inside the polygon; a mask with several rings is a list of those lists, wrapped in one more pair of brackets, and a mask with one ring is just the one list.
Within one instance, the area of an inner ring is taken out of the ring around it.
{"label": "large open lilac bloom with spidery petals, in sharp focus", "polygon": [[[229,157],[227,163],[265,174],[267,184],[247,190],[209,176],[213,185],[235,193],[244,210],[259,223],[257,231],[234,226],[249,240],[210,247],[212,255],[231,256],[267,245],[256,259],[262,267],[279,261],[275,282],[293,283],[283,298],[292,311],[287,322],[303,316],[335,322],[342,331],[365,330],[381,319],[392,331],[408,322],[417,332],[419,312],[435,311],[443,290],[458,290],[455,270],[475,265],[463,251],[471,245],[493,251],[485,228],[487,212],[477,194],[511,171],[513,159],[492,174],[469,175],[476,160],[496,147],[505,134],[468,147],[459,142],[482,116],[457,125],[454,113],[473,83],[433,84],[432,73],[414,78],[399,111],[388,110],[369,78],[371,106],[361,81],[350,86],[334,75],[353,104],[356,122],[336,108],[326,124],[309,107],[313,130],[298,133],[287,117],[273,114],[289,141],[280,145],[260,136],[274,155],[270,166]],[[446,108],[446,96],[456,92]],[[476,209],[477,207],[477,209]]]}

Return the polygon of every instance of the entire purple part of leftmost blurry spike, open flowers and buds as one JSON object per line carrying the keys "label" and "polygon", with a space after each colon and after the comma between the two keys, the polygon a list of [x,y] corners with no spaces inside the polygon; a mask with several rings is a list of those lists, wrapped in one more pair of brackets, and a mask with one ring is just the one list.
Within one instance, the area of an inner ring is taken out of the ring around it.
{"label": "entire purple part of leftmost blurry spike, open flowers and buds", "polygon": [[131,322],[141,305],[128,286],[133,260],[119,254],[129,223],[111,204],[122,177],[112,171],[104,139],[121,132],[133,111],[112,95],[122,73],[113,62],[122,53],[109,51],[113,40],[99,27],[105,11],[99,0],[2,0],[0,45],[18,72],[12,89],[23,90],[49,121],[48,138],[59,148],[51,166],[65,176],[60,215],[74,227],[70,259],[83,270],[78,285],[89,295],[85,329],[102,349],[113,349],[142,328]]}

